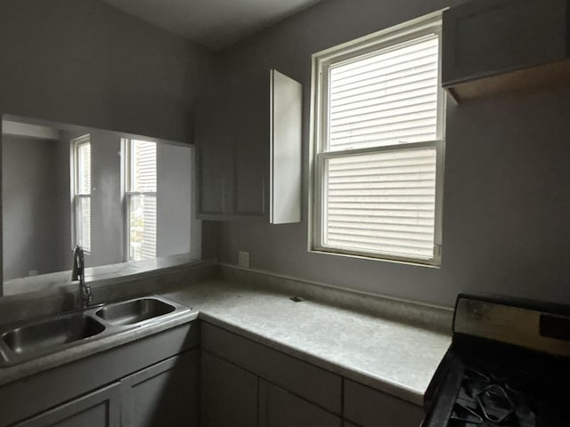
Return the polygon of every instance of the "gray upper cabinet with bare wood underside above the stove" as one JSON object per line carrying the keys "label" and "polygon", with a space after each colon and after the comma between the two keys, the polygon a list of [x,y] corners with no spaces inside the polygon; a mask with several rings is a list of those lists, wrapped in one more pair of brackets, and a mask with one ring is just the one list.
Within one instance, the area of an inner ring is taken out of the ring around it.
{"label": "gray upper cabinet with bare wood underside above the stove", "polygon": [[442,83],[458,100],[568,85],[568,0],[476,0],[444,12]]}

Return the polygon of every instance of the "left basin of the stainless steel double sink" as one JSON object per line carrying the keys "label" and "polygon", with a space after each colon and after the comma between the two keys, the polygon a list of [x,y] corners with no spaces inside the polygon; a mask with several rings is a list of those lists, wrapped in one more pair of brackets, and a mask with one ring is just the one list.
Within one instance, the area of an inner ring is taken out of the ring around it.
{"label": "left basin of the stainless steel double sink", "polygon": [[16,327],[4,333],[2,338],[17,355],[41,354],[45,350],[101,334],[104,330],[105,326],[94,318],[74,313]]}

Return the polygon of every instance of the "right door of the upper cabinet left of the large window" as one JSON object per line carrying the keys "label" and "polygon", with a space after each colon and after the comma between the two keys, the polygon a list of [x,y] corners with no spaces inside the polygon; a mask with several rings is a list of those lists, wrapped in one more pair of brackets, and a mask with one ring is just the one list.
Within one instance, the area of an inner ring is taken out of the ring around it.
{"label": "right door of the upper cabinet left of the large window", "polygon": [[248,89],[232,102],[235,214],[263,217],[269,191],[269,85]]}

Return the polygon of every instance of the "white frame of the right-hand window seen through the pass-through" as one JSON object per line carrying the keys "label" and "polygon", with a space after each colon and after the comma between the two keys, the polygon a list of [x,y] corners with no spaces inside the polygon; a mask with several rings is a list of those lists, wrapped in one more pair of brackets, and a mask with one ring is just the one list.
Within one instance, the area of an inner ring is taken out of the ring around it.
{"label": "white frame of the right-hand window seen through the pass-through", "polygon": [[[133,151],[133,143],[134,141],[145,141],[145,142],[152,142],[154,144],[157,144],[157,150],[158,150],[158,141],[151,141],[151,140],[144,140],[141,138],[121,138],[121,151],[123,154],[123,167],[121,168],[121,174],[122,176],[122,187],[123,187],[123,205],[124,205],[124,224],[125,224],[125,235],[124,235],[124,241],[125,241],[125,254],[124,254],[124,259],[125,262],[134,262],[134,259],[131,259],[131,230],[130,230],[130,212],[131,212],[131,199],[132,197],[155,197],[155,199],[157,200],[157,206],[158,206],[158,182],[157,182],[157,190],[156,191],[132,191],[133,188],[133,171],[134,171],[134,167],[133,167],[133,155],[132,155],[132,151]],[[158,157],[158,152],[157,152],[157,157]],[[158,162],[158,158],[157,158],[157,162]],[[157,175],[158,175],[158,165],[157,165]],[[157,176],[157,181],[158,181],[158,176]],[[158,214],[158,212],[157,212]],[[158,230],[157,230],[158,231]],[[155,236],[155,238],[158,238],[158,236]],[[156,250],[157,247],[155,247],[155,258],[156,258]],[[143,261],[143,260],[140,260]]]}

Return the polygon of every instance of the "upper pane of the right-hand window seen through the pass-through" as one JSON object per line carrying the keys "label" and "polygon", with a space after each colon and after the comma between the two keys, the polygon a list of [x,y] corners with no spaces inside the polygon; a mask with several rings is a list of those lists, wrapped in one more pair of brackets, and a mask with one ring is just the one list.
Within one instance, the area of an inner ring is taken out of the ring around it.
{"label": "upper pane of the right-hand window seen through the pass-through", "polygon": [[131,141],[130,191],[154,193],[157,190],[157,144],[149,141]]}

